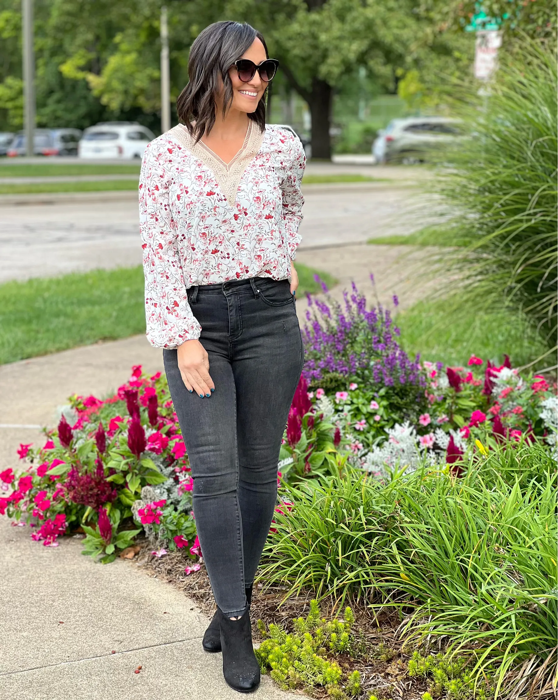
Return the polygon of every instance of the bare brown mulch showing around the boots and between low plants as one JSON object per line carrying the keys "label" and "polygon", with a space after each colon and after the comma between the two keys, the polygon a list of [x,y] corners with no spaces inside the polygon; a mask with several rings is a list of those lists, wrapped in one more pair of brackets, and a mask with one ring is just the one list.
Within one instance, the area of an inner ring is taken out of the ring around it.
{"label": "bare brown mulch showing around the boots and between low plants", "polygon": [[[141,548],[134,561],[147,575],[169,582],[183,591],[209,617],[214,614],[215,601],[204,566],[187,576],[184,567],[191,563],[188,556],[181,552],[170,552],[158,558],[151,556],[151,547],[147,545]],[[285,598],[286,592],[287,589],[277,587],[263,591],[262,584],[259,584],[258,591],[254,591],[252,598],[252,622],[263,619],[266,624],[274,622],[291,631],[293,618],[306,617],[308,614],[312,595]],[[358,659],[338,654],[335,660],[346,672],[360,671],[365,689],[361,698],[368,698],[370,692],[374,692],[382,700],[420,700],[428,690],[428,685],[407,675],[406,662],[410,649],[405,648],[405,652],[402,649],[404,640],[398,636],[400,619],[389,612],[380,612],[375,616],[371,610],[358,603],[352,603],[351,608],[356,619],[354,629],[361,636],[365,651]],[[328,605],[326,601],[321,604],[321,611],[323,617],[328,618],[340,612],[338,609],[333,610],[333,605]],[[253,624],[252,629],[257,643],[261,638],[256,624]],[[316,689],[314,697],[325,699],[328,695],[321,689]]]}

